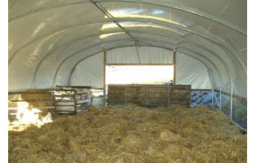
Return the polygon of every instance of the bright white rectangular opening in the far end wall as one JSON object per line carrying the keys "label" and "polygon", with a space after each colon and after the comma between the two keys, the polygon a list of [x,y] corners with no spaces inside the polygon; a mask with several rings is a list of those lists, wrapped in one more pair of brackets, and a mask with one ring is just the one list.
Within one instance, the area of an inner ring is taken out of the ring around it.
{"label": "bright white rectangular opening in the far end wall", "polygon": [[108,84],[173,84],[173,65],[106,66]]}

